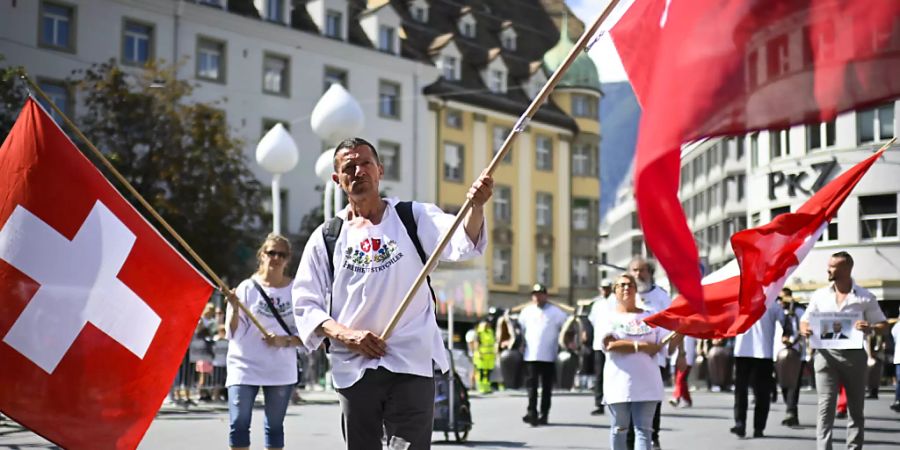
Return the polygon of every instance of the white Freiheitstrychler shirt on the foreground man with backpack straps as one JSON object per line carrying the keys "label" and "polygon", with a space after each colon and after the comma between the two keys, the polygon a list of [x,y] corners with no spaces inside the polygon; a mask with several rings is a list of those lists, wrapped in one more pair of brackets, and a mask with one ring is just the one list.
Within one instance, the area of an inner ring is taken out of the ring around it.
{"label": "white Freiheitstrychler shirt on the foreground man with backpack straps", "polygon": [[[333,310],[328,313],[332,275],[322,227],[316,228],[297,269],[294,280],[294,319],[306,348],[315,350],[324,340],[316,328],[328,319],[357,330],[381,334],[394,311],[413,285],[422,260],[394,206],[397,199],[384,199],[389,205],[378,225],[362,226],[346,222],[349,207],[338,213],[345,220],[335,243]],[[430,254],[455,216],[437,206],[413,203],[419,241]],[[475,246],[464,227],[453,234],[441,254],[443,261],[461,261],[481,255],[487,245],[484,224]],[[369,358],[350,351],[340,342],[331,342],[332,375],[335,387],[353,386],[366,369],[384,367],[394,373],[432,377],[432,361],[442,371],[449,369],[447,351],[434,316],[434,302],[424,284],[416,292],[397,327],[387,340],[387,354]]]}

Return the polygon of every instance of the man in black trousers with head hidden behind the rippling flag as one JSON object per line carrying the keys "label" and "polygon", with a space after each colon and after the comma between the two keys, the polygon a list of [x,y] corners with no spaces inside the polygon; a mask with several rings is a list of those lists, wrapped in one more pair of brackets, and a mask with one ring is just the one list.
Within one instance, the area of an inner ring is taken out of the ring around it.
{"label": "man in black trousers with head hidden behind the rippling flag", "polygon": [[731,432],[738,437],[747,433],[747,389],[753,388],[756,405],[753,408],[753,437],[763,437],[772,402],[772,377],[775,346],[775,326],[785,323],[784,309],[773,301],[762,317],[734,341],[734,426]]}

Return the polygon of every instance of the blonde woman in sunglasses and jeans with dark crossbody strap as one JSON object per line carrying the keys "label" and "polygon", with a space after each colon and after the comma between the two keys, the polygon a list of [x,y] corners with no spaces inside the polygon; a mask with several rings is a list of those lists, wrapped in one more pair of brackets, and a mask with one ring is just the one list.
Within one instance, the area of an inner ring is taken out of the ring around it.
{"label": "blonde woman in sunglasses and jeans with dark crossbody strap", "polygon": [[[294,324],[292,280],[284,275],[291,258],[290,242],[283,236],[270,234],[256,257],[259,261],[256,273],[242,281],[234,295],[228,296],[225,386],[232,450],[250,448],[250,416],[260,387],[265,398],[266,448],[284,447],[284,415],[297,383],[296,347],[301,341]],[[236,302],[244,303],[271,335],[263,336],[241,314]]]}

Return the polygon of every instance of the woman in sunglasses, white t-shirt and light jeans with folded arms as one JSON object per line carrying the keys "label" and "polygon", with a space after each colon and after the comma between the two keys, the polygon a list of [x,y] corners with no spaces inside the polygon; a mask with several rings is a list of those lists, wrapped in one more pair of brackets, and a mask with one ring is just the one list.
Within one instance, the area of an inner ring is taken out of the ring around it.
{"label": "woman in sunglasses, white t-shirt and light jeans with folded arms", "polygon": [[656,354],[663,347],[662,332],[644,319],[650,313],[635,306],[637,282],[619,276],[614,285],[616,304],[598,323],[606,364],[603,367],[604,402],[611,415],[610,447],[627,448],[628,427],[634,422],[635,450],[649,450],[653,414],[663,399],[662,377]]}

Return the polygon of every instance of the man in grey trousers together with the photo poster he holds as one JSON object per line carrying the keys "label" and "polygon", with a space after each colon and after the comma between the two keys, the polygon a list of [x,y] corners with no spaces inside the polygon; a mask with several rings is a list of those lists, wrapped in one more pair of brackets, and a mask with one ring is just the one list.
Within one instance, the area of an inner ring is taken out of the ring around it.
{"label": "man in grey trousers together with the photo poster he holds", "polygon": [[811,338],[810,345],[816,349],[813,367],[819,403],[816,419],[818,450],[832,448],[831,430],[840,384],[847,389],[850,413],[847,448],[863,447],[867,356],[862,337],[865,333],[887,330],[887,318],[878,301],[871,292],[853,282],[852,271],[853,257],[849,253],[831,255],[828,260],[831,284],[812,294],[809,308],[800,319],[800,333]]}

